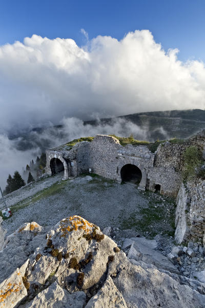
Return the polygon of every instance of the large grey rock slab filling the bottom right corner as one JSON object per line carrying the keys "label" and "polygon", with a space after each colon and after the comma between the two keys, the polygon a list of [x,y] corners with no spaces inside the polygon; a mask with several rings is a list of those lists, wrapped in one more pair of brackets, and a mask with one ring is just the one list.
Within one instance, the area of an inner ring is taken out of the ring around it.
{"label": "large grey rock slab filling the bottom right corner", "polygon": [[[178,277],[176,274],[167,273]],[[204,295],[193,291],[188,283],[180,284],[167,273],[133,265],[122,252],[116,256],[108,270],[108,275],[112,277],[129,308],[205,307]]]}

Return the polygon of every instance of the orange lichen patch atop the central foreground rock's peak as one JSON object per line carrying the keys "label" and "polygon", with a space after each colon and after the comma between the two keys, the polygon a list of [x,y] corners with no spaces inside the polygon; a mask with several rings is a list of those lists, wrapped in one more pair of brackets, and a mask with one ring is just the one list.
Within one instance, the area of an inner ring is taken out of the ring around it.
{"label": "orange lichen patch atop the central foreground rock's peak", "polygon": [[77,215],[67,217],[60,221],[60,230],[62,233],[61,237],[66,237],[69,232],[77,231],[78,229],[84,230],[86,233],[89,233],[92,228],[92,223]]}

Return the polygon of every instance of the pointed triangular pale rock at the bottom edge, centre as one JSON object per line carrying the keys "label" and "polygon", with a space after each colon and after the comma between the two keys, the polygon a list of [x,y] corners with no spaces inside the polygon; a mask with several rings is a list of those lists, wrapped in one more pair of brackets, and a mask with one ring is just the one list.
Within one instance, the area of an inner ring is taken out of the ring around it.
{"label": "pointed triangular pale rock at the bottom edge, centre", "polygon": [[127,308],[126,302],[121,293],[114,285],[109,276],[103,287],[94,295],[85,308]]}

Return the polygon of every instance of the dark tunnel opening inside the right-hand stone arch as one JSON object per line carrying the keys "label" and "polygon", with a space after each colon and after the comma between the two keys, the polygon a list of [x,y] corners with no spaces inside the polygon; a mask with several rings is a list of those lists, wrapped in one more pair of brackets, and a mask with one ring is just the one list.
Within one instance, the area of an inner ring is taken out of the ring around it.
{"label": "dark tunnel opening inside the right-hand stone arch", "polygon": [[120,175],[123,182],[131,182],[136,185],[139,185],[142,178],[141,170],[132,164],[123,166],[121,168]]}

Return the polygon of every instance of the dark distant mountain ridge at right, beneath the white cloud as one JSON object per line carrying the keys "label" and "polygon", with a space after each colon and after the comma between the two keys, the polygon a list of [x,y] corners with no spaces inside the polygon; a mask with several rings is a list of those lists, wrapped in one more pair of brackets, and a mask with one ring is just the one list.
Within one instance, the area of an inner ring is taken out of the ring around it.
{"label": "dark distant mountain ridge at right, beneath the white cloud", "polygon": [[[140,112],[100,122],[111,125],[116,119],[125,119],[146,129],[149,140],[165,139],[166,134],[168,139],[184,139],[205,128],[205,110],[201,109]],[[86,121],[86,124],[98,125],[99,121]]]}

